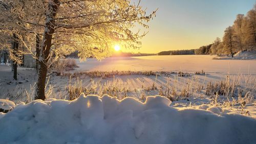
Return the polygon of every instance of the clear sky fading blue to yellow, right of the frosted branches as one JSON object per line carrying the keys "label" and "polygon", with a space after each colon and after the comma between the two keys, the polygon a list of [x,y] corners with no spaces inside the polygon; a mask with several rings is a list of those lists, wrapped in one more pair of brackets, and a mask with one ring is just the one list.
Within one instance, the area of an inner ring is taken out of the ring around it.
{"label": "clear sky fading blue to yellow, right of the frosted branches", "polygon": [[[137,0],[136,0],[137,1]],[[137,1],[138,2],[138,1]],[[147,11],[159,8],[148,23],[150,32],[142,39],[140,53],[198,49],[222,38],[237,14],[246,14],[255,0],[142,0]]]}

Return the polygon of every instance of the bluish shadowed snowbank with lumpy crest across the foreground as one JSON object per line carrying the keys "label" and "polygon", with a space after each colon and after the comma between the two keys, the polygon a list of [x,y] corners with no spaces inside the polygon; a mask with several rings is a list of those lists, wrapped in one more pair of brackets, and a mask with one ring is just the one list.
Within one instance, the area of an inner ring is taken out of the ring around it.
{"label": "bluish shadowed snowbank with lumpy crest across the foreground", "polygon": [[218,107],[169,107],[165,97],[18,104],[0,119],[2,143],[256,143],[256,119]]}

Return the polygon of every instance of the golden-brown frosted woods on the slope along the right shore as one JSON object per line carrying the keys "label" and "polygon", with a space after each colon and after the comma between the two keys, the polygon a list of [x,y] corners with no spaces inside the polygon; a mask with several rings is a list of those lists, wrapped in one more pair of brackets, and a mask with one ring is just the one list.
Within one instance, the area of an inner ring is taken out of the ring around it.
{"label": "golden-brown frosted woods on the slope along the right shore", "polygon": [[230,55],[239,51],[256,51],[256,5],[246,15],[238,14],[232,26],[209,45],[195,50],[197,55]]}

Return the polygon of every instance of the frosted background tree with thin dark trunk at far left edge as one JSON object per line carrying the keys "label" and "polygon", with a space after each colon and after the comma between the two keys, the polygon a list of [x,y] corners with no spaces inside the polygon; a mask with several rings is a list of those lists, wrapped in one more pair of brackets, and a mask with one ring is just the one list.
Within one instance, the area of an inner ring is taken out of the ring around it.
{"label": "frosted background tree with thin dark trunk at far left edge", "polygon": [[32,11],[35,6],[32,1],[0,1],[1,47],[13,61],[15,80],[17,65],[24,62],[24,54],[33,55],[37,26],[30,23],[37,18],[37,12]]}

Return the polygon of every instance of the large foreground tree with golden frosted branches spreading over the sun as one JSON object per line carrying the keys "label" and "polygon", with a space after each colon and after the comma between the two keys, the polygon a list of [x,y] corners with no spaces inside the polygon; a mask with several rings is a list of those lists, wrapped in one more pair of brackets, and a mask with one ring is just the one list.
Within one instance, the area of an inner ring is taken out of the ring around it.
{"label": "large foreground tree with golden frosted branches spreading over the sun", "polygon": [[[114,43],[137,48],[139,39],[145,33],[130,29],[136,23],[147,28],[145,22],[155,16],[155,12],[146,14],[139,3],[131,4],[128,0],[48,0],[42,4],[44,6],[41,12],[45,13],[45,20],[40,19],[36,24],[45,30],[40,43],[35,94],[35,99],[42,100],[45,99],[48,68],[59,54],[76,50],[82,59],[90,56],[100,59],[110,54],[110,47]],[[41,21],[44,22],[40,23]],[[35,24],[29,19],[26,23]]]}

